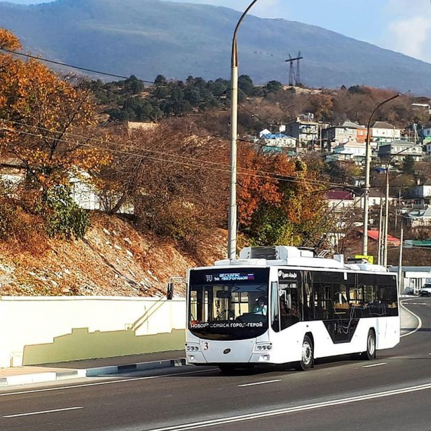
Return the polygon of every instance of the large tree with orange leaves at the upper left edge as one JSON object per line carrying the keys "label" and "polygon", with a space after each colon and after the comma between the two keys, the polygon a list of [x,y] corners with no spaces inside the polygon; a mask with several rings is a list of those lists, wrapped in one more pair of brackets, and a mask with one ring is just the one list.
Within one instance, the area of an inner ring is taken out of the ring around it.
{"label": "large tree with orange leaves at the upper left edge", "polygon": [[[0,48],[16,51],[19,40],[0,28]],[[70,175],[96,171],[109,161],[93,138],[91,94],[61,80],[39,61],[0,52],[0,151],[26,169],[35,189],[68,184]]]}

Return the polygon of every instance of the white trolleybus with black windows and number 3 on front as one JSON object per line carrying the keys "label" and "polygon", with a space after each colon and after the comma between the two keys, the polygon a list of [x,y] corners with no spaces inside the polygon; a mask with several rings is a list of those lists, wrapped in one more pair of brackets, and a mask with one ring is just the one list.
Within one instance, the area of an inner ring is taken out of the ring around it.
{"label": "white trolleybus with black windows and number 3 on front", "polygon": [[188,364],[223,372],[376,350],[400,341],[397,278],[291,246],[246,247],[239,259],[189,270]]}

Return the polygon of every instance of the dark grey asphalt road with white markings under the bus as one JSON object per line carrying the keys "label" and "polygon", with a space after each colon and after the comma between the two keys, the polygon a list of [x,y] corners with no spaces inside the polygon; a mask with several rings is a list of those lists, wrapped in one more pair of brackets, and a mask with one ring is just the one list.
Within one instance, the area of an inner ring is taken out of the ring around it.
{"label": "dark grey asphalt road with white markings under the bus", "polygon": [[182,367],[0,392],[0,429],[34,431],[431,431],[431,298],[404,304],[419,330],[371,362],[224,376]]}

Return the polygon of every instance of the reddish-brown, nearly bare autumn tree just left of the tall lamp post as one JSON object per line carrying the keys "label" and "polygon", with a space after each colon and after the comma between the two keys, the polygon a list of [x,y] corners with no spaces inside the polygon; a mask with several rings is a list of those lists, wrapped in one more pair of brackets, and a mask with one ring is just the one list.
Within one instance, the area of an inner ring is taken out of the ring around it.
{"label": "reddish-brown, nearly bare autumn tree just left of the tall lamp post", "polygon": [[140,229],[176,239],[189,251],[226,226],[227,141],[203,134],[188,119],[112,135],[117,153],[101,173],[106,209],[133,206]]}

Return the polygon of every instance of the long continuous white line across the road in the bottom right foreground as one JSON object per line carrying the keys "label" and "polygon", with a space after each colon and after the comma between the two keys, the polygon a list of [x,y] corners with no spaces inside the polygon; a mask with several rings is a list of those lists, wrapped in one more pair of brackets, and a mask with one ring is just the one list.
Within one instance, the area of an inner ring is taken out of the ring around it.
{"label": "long continuous white line across the road in the bottom right foreground", "polygon": [[289,413],[303,412],[307,410],[316,410],[316,409],[321,409],[323,407],[332,407],[332,406],[338,406],[338,405],[344,405],[344,404],[357,403],[361,401],[391,397],[391,396],[400,395],[403,393],[415,392],[419,390],[428,390],[428,389],[431,389],[431,383],[426,383],[418,386],[410,386],[403,389],[385,390],[383,392],[375,392],[367,395],[350,397],[350,398],[340,398],[338,400],[333,400],[333,401],[323,401],[320,403],[306,404],[303,406],[287,407],[284,409],[277,409],[277,410],[268,410],[260,413],[249,413],[249,414],[230,416],[230,417],[225,417],[220,419],[211,419],[211,420],[205,420],[200,422],[184,423],[181,425],[166,426],[163,428],[153,428],[153,429],[149,429],[148,431],[183,431],[185,429],[203,428],[203,427],[214,426],[214,425],[222,425],[226,423],[235,423],[235,422],[242,422],[245,420],[261,419],[261,418],[270,417],[270,416],[279,416],[279,415],[284,415]]}

